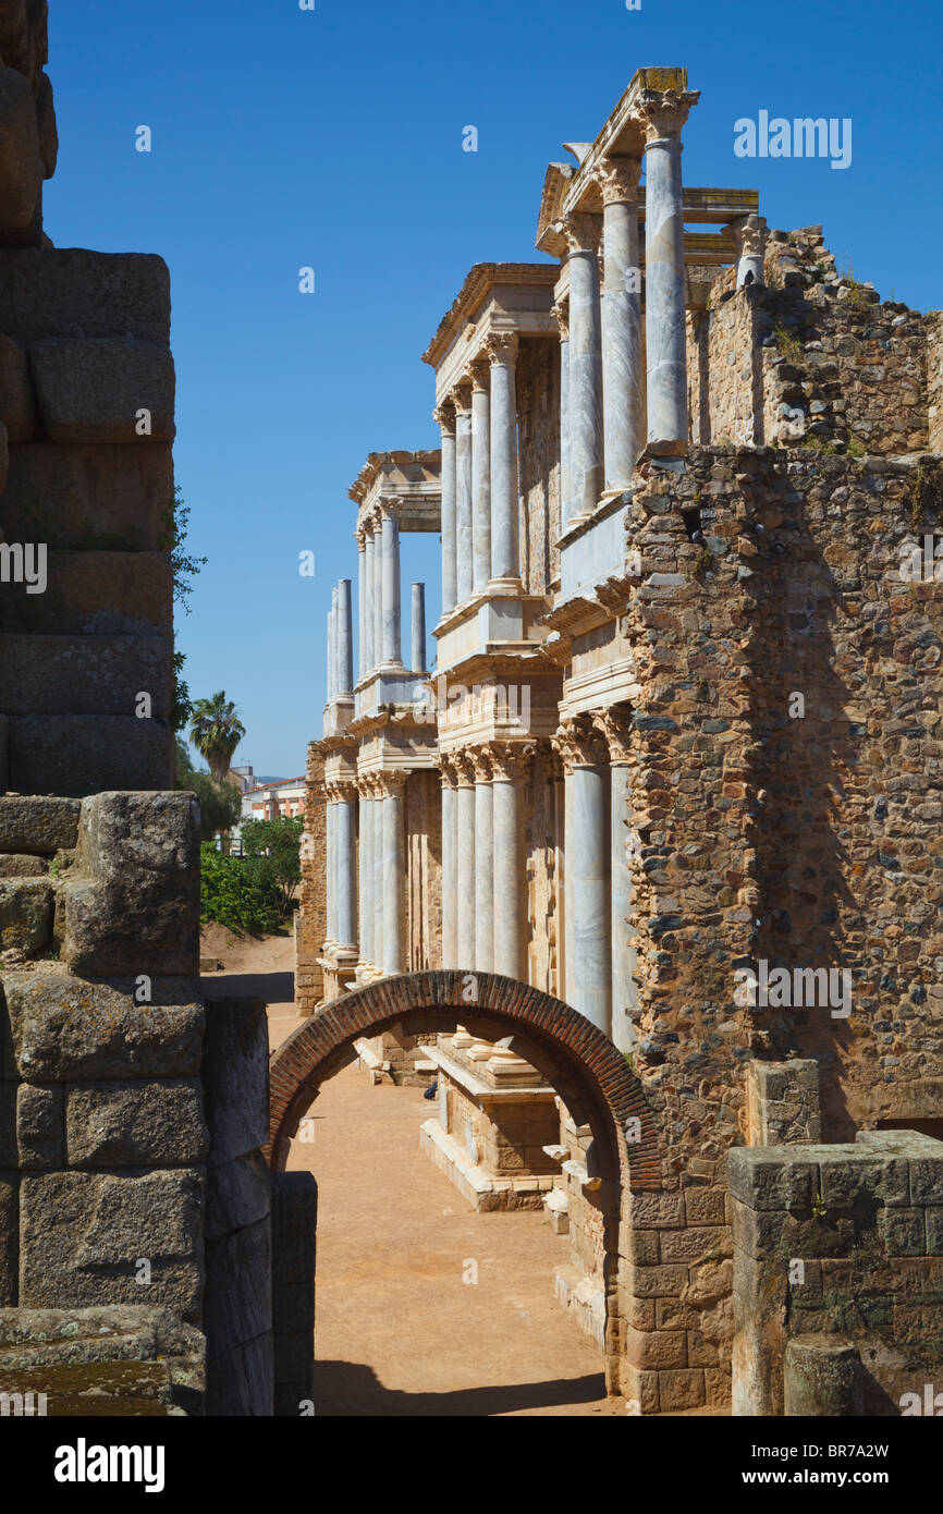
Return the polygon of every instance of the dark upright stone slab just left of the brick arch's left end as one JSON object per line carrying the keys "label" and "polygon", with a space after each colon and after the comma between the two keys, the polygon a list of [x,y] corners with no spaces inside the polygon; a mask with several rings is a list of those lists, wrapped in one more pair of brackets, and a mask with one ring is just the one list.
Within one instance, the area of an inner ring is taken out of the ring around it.
{"label": "dark upright stone slab just left of the brick arch's left end", "polygon": [[262,999],[207,998],[203,1087],[210,1167],[266,1145],[268,1028]]}

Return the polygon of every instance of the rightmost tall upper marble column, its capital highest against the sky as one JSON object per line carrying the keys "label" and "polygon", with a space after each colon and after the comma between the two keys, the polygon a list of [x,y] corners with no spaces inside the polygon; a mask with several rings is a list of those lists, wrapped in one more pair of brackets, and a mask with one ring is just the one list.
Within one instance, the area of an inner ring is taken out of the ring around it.
{"label": "rightmost tall upper marble column, its capital highest against the sky", "polygon": [[681,127],[696,89],[645,89],[645,347],[648,442],[680,451],[687,444],[687,332],[684,319],[684,207]]}

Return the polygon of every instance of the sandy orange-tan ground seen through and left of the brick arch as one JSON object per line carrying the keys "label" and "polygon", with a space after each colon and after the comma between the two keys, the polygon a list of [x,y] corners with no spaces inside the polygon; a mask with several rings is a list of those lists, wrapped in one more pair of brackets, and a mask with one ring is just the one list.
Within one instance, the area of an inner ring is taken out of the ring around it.
{"label": "sandy orange-tan ground seen through and left of the brick arch", "polygon": [[[247,942],[213,925],[209,992],[269,1001],[272,1048],[298,1023],[291,936]],[[210,989],[212,984],[212,989]],[[372,1087],[354,1066],[312,1105],[313,1142],[289,1167],[318,1179],[316,1413],[612,1416],[602,1354],[552,1294],[569,1241],[540,1214],[477,1214],[419,1152],[421,1089]],[[477,1281],[471,1281],[477,1278]],[[469,1279],[469,1281],[465,1281]]]}

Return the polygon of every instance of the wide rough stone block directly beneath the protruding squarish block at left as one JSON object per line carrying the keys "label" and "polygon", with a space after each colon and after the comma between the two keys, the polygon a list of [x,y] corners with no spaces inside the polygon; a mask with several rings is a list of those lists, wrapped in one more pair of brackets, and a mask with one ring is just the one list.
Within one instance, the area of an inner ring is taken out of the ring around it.
{"label": "wide rough stone block directly beneath the protruding squarish block at left", "polygon": [[151,1004],[133,984],[91,984],[58,975],[5,974],[0,1028],[9,1026],[14,1076],[32,1083],[197,1078],[203,1057],[201,1004],[173,1002],[195,983],[151,983]]}

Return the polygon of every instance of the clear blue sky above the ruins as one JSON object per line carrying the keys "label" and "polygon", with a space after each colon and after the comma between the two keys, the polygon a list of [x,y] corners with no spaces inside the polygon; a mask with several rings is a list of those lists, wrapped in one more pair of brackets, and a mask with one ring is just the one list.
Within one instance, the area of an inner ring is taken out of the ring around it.
{"label": "clear blue sky above the ruins", "polygon": [[[209,557],[180,618],[191,693],[226,689],[236,762],[286,777],[321,734],[324,616],[354,578],[347,489],[380,448],[437,445],[419,359],[468,268],[540,260],[549,160],[645,64],[702,97],[689,183],[760,189],[770,226],[823,223],[884,297],[943,304],[943,39],[931,0],[51,0],[59,247],[171,269],[177,481]],[[851,117],[846,171],[734,156],[758,111]],[[153,129],[153,153],[135,129]],[[477,153],[462,150],[478,127]],[[316,292],[298,292],[312,265]],[[301,578],[298,553],[316,553]],[[439,610],[437,542],[404,539]],[[431,646],[431,636],[430,636]]]}

